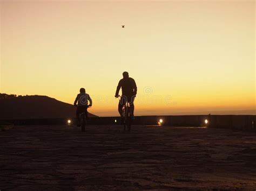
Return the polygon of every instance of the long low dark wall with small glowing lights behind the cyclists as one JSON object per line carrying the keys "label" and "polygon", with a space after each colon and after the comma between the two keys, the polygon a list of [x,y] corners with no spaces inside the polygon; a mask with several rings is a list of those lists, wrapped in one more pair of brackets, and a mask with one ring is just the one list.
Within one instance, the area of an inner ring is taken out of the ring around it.
{"label": "long low dark wall with small glowing lights behind the cyclists", "polygon": [[[75,118],[59,119],[17,119],[5,120],[15,125],[62,125],[67,124],[68,119],[75,123]],[[136,116],[134,125],[161,125],[168,126],[208,126],[208,128],[228,128],[234,130],[256,131],[255,115],[183,115],[183,116]],[[207,119],[207,123],[205,120]],[[1,121],[0,121],[1,124]],[[88,121],[91,125],[120,124],[120,117],[92,117]]]}

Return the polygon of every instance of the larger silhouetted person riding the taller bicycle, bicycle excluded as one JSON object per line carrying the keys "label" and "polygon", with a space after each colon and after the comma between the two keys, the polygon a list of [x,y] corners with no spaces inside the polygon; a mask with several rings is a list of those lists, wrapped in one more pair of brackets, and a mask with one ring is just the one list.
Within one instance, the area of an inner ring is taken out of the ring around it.
{"label": "larger silhouetted person riding the taller bicycle, bicycle excluded", "polygon": [[137,94],[137,86],[135,81],[131,77],[129,77],[128,72],[123,73],[123,79],[121,79],[118,83],[115,97],[118,97],[120,88],[122,88],[122,97],[118,103],[118,112],[122,117],[122,108],[125,105],[125,102],[127,101],[130,103],[131,116],[133,118],[133,102]]}

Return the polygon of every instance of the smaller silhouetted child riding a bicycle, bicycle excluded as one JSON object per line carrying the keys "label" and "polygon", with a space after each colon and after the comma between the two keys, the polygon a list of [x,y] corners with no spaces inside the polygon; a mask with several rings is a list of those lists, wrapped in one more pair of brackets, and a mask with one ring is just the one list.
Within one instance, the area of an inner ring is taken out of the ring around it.
{"label": "smaller silhouetted child riding a bicycle, bicycle excluded", "polygon": [[[90,104],[88,105],[88,101]],[[77,104],[78,102],[78,104]],[[89,94],[85,93],[84,88],[80,88],[80,94],[77,95],[74,105],[77,107],[77,126],[80,126],[79,115],[85,112],[86,120],[88,119],[87,108],[92,106],[92,100]]]}

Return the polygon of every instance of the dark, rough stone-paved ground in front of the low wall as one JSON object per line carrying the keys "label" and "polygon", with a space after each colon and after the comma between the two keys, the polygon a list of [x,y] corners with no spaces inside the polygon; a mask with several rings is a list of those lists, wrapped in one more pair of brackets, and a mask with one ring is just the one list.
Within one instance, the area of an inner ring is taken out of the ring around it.
{"label": "dark, rough stone-paved ground in front of the low wall", "polygon": [[0,190],[256,189],[256,133],[16,126],[0,132]]}

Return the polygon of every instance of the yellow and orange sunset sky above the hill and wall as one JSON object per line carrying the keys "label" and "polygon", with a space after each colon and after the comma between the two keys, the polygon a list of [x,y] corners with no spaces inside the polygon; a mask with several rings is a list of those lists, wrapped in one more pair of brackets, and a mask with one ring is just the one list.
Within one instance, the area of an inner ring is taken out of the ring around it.
{"label": "yellow and orange sunset sky above the hill and wall", "polygon": [[255,114],[254,1],[0,2],[1,93],[117,116],[127,71],[135,115]]}

